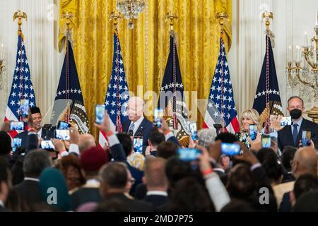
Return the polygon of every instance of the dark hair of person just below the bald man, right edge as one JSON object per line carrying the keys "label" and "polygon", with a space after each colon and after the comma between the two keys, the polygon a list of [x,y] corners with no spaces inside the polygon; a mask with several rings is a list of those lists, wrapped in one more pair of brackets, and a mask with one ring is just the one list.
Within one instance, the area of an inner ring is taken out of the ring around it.
{"label": "dark hair of person just below the bald man, right edge", "polygon": [[301,194],[318,188],[317,177],[311,174],[302,174],[294,184],[295,198],[298,199]]}

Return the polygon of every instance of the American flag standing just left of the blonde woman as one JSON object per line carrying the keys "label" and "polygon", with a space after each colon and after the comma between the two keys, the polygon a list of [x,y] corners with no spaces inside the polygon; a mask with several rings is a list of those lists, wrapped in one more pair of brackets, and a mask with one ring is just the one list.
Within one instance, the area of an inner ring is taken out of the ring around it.
{"label": "American flag standing just left of the blonde woman", "polygon": [[231,133],[240,131],[230,71],[226,59],[225,44],[222,37],[220,37],[218,64],[216,64],[214,71],[208,106],[204,117],[204,128],[214,128],[213,124],[222,124]]}

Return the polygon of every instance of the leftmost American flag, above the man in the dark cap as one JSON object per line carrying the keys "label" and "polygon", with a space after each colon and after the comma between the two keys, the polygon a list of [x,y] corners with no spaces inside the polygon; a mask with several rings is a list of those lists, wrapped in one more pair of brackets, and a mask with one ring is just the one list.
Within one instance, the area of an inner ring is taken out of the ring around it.
{"label": "leftmost American flag, above the man in the dark cap", "polygon": [[[18,121],[20,100],[28,99],[29,107],[36,107],[35,93],[30,76],[29,62],[26,57],[23,37],[18,35],[18,50],[16,54],[16,69],[13,73],[11,92],[6,106],[6,116],[4,121]],[[18,132],[12,131],[11,137],[16,136]]]}

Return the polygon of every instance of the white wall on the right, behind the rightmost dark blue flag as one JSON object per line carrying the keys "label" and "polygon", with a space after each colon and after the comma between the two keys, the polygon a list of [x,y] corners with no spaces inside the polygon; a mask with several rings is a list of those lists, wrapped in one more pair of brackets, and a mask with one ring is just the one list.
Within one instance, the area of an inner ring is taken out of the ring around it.
{"label": "white wall on the right, behind the rightmost dark blue flag", "polygon": [[[273,54],[284,110],[288,97],[299,94],[297,89],[288,87],[285,74],[288,46],[294,48],[295,59],[295,46],[304,44],[305,31],[308,37],[314,36],[317,0],[232,0],[233,39],[228,58],[239,115],[253,106],[264,59],[265,24],[259,19],[262,4],[267,4],[274,15],[270,28],[276,35]],[[305,107],[310,109],[313,102],[307,102]]]}

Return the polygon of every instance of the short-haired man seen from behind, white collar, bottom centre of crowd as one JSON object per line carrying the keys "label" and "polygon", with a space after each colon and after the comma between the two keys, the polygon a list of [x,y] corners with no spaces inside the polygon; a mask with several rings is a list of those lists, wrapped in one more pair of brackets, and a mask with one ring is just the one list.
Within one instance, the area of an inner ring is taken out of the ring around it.
{"label": "short-haired man seen from behind, white collar, bottom centre of crowd", "polygon": [[165,159],[161,157],[146,158],[144,171],[143,184],[146,184],[147,193],[143,201],[153,204],[155,208],[160,208],[169,202]]}

